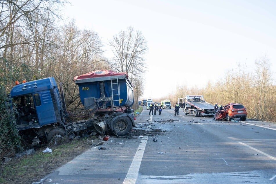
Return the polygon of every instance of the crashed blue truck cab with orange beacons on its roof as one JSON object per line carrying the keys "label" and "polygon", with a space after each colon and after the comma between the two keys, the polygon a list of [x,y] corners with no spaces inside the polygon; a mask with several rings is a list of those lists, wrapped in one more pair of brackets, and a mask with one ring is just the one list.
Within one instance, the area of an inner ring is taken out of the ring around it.
{"label": "crashed blue truck cab with orange beacons on its roof", "polygon": [[18,84],[10,95],[12,102],[17,104],[19,131],[63,123],[62,99],[53,77]]}

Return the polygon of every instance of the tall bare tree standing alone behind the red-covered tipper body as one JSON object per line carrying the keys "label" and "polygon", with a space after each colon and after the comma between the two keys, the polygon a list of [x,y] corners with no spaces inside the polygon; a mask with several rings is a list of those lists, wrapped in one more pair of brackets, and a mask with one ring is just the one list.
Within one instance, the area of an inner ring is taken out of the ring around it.
{"label": "tall bare tree standing alone behind the red-covered tipper body", "polygon": [[133,27],[122,30],[109,41],[114,58],[112,68],[118,72],[130,73],[131,82],[136,73],[145,71],[144,55],[147,52],[147,42],[140,31]]}

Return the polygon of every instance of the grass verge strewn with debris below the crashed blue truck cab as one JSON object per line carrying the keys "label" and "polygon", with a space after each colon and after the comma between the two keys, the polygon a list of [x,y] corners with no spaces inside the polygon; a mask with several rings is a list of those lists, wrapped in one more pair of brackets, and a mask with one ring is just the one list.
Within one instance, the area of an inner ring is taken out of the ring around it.
{"label": "grass verge strewn with debris below the crashed blue truck cab", "polygon": [[76,156],[82,154],[91,147],[89,138],[80,138],[69,141],[63,140],[59,145],[48,144],[52,149],[51,153],[43,153],[46,147],[38,148],[35,154],[25,155],[21,158],[12,158],[7,163],[3,163],[0,183],[32,183],[40,181],[41,178],[61,167]]}

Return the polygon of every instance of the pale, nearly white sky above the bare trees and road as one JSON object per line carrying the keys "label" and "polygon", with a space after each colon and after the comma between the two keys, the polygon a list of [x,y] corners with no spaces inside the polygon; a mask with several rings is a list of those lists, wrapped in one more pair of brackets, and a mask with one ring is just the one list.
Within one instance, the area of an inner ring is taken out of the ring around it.
{"label": "pale, nearly white sky above the bare trees and road", "polygon": [[[183,84],[203,88],[237,62],[253,68],[265,55],[275,84],[276,1],[69,1],[64,16],[97,32],[106,45],[129,26],[142,32],[149,48],[143,99],[165,97]],[[108,58],[110,49],[104,47]]]}

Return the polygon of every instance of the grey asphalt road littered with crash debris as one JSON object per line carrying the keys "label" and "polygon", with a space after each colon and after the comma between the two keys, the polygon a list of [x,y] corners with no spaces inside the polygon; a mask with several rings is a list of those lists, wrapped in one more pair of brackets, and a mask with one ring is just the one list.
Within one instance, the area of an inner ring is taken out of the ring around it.
{"label": "grey asphalt road littered with crash debris", "polygon": [[144,107],[134,129],[143,137],[111,137],[38,182],[276,183],[276,124],[179,111],[149,116]]}

